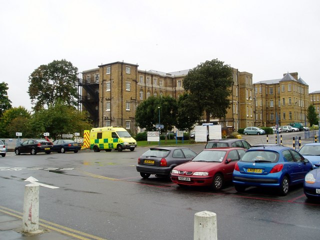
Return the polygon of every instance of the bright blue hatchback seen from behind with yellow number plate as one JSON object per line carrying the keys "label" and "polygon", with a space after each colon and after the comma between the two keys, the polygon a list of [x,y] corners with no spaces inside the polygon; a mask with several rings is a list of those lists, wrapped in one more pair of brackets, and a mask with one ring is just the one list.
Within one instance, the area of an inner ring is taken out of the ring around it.
{"label": "bright blue hatchback seen from behind with yellow number plate", "polygon": [[289,186],[303,183],[312,164],[290,147],[269,146],[248,149],[235,164],[232,182],[236,191],[246,187],[274,187],[286,195]]}

